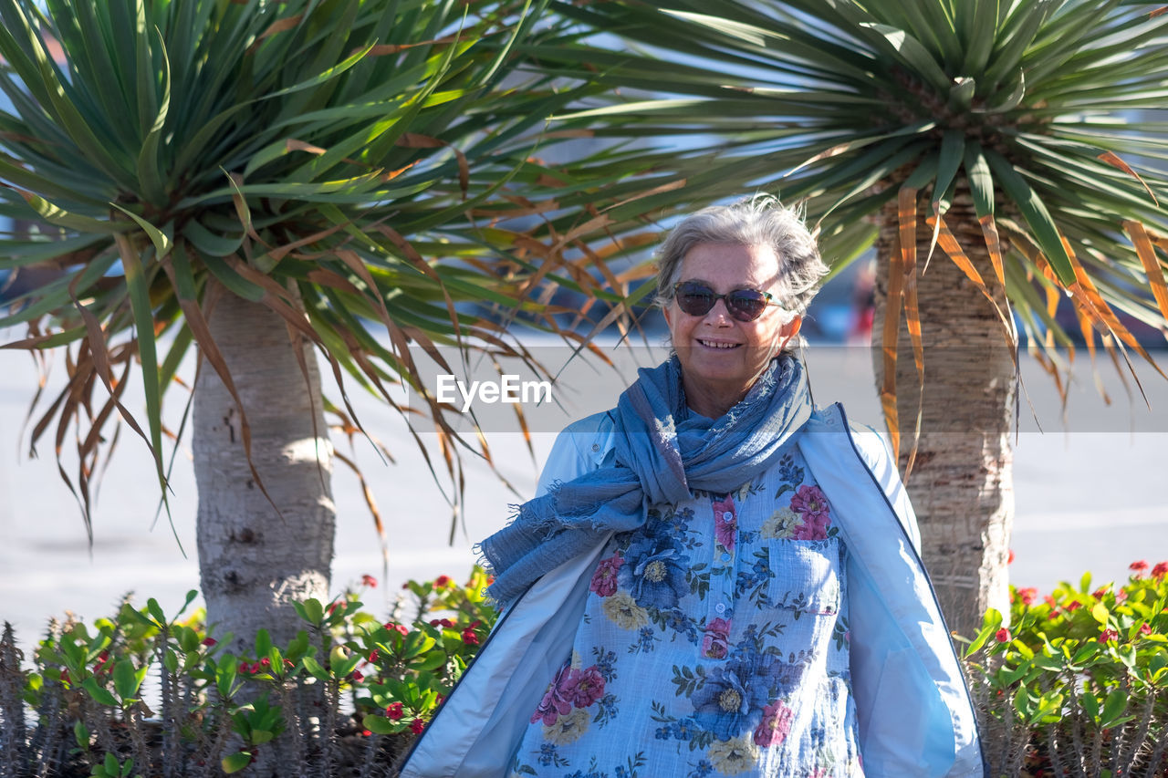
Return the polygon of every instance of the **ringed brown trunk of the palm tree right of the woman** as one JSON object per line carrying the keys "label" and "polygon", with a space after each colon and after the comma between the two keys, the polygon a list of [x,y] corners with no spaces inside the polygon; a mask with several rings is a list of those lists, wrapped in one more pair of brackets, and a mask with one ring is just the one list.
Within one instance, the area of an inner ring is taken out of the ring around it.
{"label": "ringed brown trunk of the palm tree right of the woman", "polygon": [[[972,203],[958,189],[946,223],[1004,311]],[[899,251],[897,203],[881,213],[877,239],[872,361],[884,378],[880,338],[888,306],[890,258]],[[920,522],[925,565],[950,630],[972,637],[987,607],[1008,613],[1014,478],[1013,346],[989,301],[938,246],[925,269],[932,229],[917,221],[917,290],[924,340],[925,391],[920,443],[909,494]],[[901,472],[912,447],[920,385],[902,312],[896,389]]]}

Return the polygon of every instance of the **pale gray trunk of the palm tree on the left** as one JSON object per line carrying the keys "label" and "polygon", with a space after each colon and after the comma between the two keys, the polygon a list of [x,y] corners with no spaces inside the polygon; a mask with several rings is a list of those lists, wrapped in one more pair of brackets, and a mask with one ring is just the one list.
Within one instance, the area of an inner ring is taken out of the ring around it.
{"label": "pale gray trunk of the palm tree on the left", "polygon": [[200,581],[208,621],[218,634],[232,632],[231,648],[243,651],[260,627],[277,645],[296,635],[292,600],[328,597],[333,450],[310,345],[300,345],[306,377],[284,320],[225,291],[209,325],[246,414],[251,460],[271,496],[248,466],[239,409],[202,357],[193,430]]}

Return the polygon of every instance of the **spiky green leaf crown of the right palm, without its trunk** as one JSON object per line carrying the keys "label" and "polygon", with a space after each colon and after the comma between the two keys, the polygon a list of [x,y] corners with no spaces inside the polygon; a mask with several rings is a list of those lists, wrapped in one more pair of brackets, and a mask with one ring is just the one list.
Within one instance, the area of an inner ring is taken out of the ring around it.
{"label": "spiky green leaf crown of the right palm, without its trunk", "polygon": [[1121,0],[556,8],[605,35],[547,53],[549,67],[621,90],[570,118],[610,138],[688,148],[675,169],[707,201],[751,188],[804,201],[839,269],[872,243],[883,208],[903,227],[917,206],[941,252],[961,264],[968,232],[954,229],[950,239],[945,217],[954,197],[972,200],[980,249],[1031,334],[1070,342],[1049,305],[1066,293],[1089,339],[1103,333],[1105,343],[1142,350],[1118,312],[1164,329],[1168,123],[1135,113],[1168,102],[1163,8]]}

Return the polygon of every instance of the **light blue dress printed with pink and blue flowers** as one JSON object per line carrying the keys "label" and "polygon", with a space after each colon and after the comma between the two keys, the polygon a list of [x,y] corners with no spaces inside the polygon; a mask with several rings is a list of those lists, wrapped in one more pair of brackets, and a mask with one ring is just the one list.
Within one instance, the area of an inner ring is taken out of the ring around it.
{"label": "light blue dress printed with pink and blue flowers", "polygon": [[731,494],[654,506],[592,576],[515,776],[862,776],[847,549],[790,445]]}

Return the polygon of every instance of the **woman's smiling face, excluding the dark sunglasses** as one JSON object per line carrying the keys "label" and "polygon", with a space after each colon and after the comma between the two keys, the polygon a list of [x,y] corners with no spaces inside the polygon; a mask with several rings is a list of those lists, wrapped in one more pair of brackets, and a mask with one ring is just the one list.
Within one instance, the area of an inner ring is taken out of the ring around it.
{"label": "woman's smiling face, excluding the dark sunglasses", "polygon": [[[680,282],[701,282],[716,294],[752,289],[776,294],[779,259],[770,246],[698,243],[681,261]],[[777,297],[777,294],[776,294]],[[801,319],[769,305],[753,321],[739,321],[717,300],[705,315],[690,315],[674,299],[665,310],[681,362],[689,407],[716,418],[746,395],[771,357],[799,332]]]}

